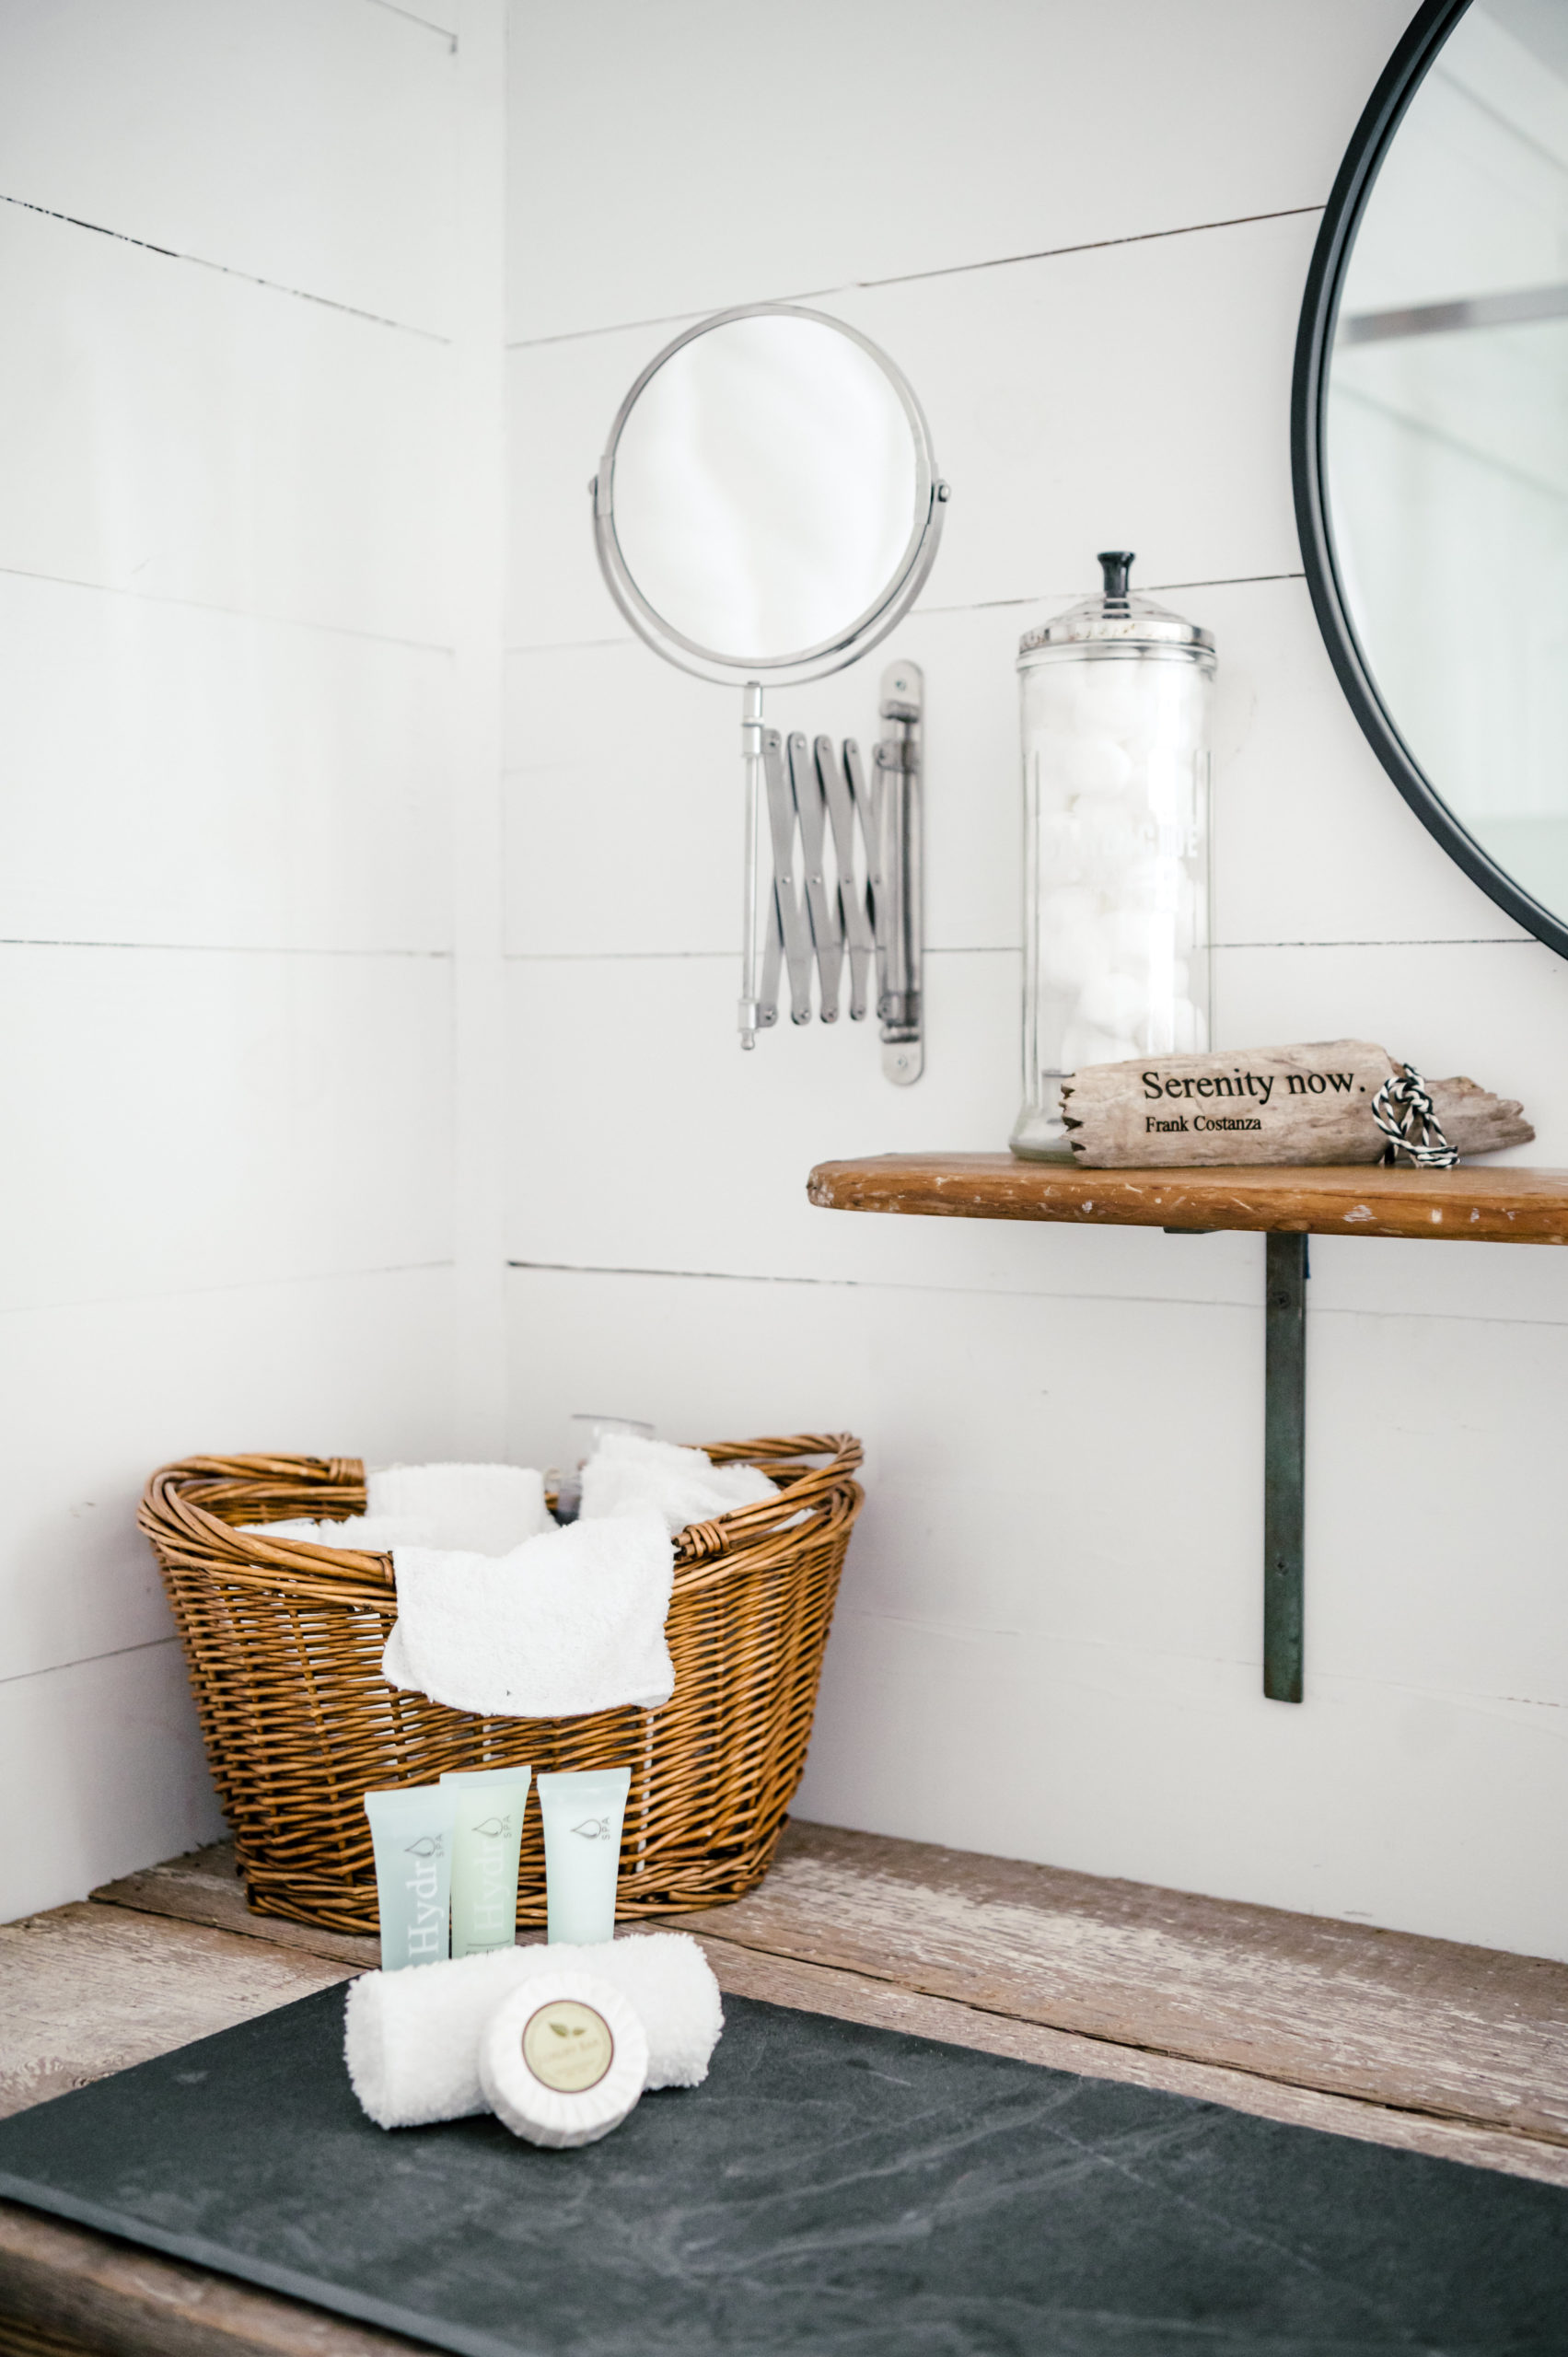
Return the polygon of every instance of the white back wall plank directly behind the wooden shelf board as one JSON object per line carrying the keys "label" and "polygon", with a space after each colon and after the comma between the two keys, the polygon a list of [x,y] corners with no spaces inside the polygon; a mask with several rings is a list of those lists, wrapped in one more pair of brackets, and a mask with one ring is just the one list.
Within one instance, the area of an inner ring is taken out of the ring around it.
{"label": "white back wall plank directly behind the wooden shelf board", "polygon": [[[1349,983],[1313,990],[1316,971],[1332,978],[1346,969]],[[1568,976],[1547,950],[1259,950],[1226,952],[1217,971],[1221,1037],[1365,1032],[1394,1054],[1415,1054],[1429,1072],[1471,1072],[1523,1096],[1542,1138],[1500,1160],[1568,1164],[1568,1136],[1554,1143],[1549,1134],[1566,1032],[1556,997]],[[740,1054],[726,959],[514,959],[507,1256],[1261,1303],[1261,1247],[1240,1235],[868,1219],[806,1202],[818,1160],[1004,1148],[1019,1091],[1016,973],[1002,955],[931,957],[927,1075],[891,1089],[870,1023],[783,1023]],[[566,1039],[582,1047],[564,1054]],[[549,1108],[547,1122],[540,1108]],[[627,1141],[637,1183],[627,1183]],[[1313,1310],[1568,1322],[1561,1252],[1325,1240],[1313,1242]]]}

